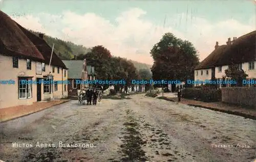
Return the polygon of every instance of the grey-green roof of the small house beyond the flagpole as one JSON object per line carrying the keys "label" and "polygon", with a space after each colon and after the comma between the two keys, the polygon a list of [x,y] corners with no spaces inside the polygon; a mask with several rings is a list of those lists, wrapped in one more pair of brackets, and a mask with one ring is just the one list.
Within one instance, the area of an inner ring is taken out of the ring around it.
{"label": "grey-green roof of the small house beyond the flagpole", "polygon": [[83,60],[62,60],[68,67],[69,79],[80,79],[83,70]]}

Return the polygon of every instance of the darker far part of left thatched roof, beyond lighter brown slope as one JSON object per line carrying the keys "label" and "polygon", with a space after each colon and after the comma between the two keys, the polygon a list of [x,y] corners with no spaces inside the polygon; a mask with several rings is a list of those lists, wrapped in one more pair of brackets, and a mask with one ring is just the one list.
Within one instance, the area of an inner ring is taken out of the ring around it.
{"label": "darker far part of left thatched roof, beyond lighter brown slope", "polygon": [[[27,29],[23,28],[22,26],[17,26],[26,34],[26,36],[35,44],[36,48],[39,50],[39,52],[42,54],[42,56],[45,59],[45,63],[49,64],[52,54],[52,47],[50,47],[47,42],[44,39],[41,39],[40,37],[34,35]],[[62,62],[62,60],[56,55],[55,52],[52,54],[52,60],[51,65],[59,66],[63,68],[67,68],[66,65]]]}

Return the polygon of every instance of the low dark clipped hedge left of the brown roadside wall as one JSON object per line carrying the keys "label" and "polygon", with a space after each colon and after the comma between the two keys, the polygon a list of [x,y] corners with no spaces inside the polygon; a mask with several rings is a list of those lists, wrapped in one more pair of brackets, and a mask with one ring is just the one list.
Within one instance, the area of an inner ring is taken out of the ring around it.
{"label": "low dark clipped hedge left of the brown roadside wall", "polygon": [[182,98],[218,102],[221,101],[221,89],[185,88],[182,90]]}

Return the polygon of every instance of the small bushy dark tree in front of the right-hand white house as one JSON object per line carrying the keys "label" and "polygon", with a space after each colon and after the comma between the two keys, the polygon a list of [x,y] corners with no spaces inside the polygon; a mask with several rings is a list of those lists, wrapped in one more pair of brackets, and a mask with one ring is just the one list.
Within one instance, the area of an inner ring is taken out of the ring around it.
{"label": "small bushy dark tree in front of the right-hand white house", "polygon": [[225,70],[226,77],[236,80],[237,86],[243,85],[243,79],[246,79],[248,77],[247,74],[244,73],[243,70],[239,70],[238,64],[231,64],[229,65],[229,68]]}

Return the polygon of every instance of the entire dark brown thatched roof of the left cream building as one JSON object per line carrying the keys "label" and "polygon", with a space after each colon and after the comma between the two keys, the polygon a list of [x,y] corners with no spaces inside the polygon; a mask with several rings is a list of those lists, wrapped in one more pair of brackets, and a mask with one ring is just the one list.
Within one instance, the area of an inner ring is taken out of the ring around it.
{"label": "entire dark brown thatched roof of the left cream building", "polygon": [[[0,53],[7,56],[30,58],[49,64],[52,48],[44,39],[34,35],[0,11]],[[67,69],[54,52],[51,65]]]}

